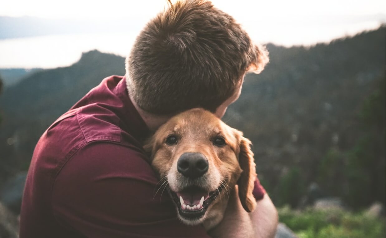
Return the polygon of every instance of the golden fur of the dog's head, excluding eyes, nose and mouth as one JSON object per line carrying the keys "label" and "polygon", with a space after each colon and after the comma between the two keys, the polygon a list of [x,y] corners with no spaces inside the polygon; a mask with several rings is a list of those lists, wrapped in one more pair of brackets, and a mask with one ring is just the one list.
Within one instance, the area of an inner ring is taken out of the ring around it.
{"label": "golden fur of the dog's head, excluding eyes, nose and mouth", "polygon": [[[177,143],[166,143],[168,136],[176,136]],[[217,146],[215,138],[221,137],[225,145]],[[242,132],[231,128],[215,115],[204,109],[191,109],[172,117],[161,126],[144,146],[151,154],[152,166],[159,177],[167,180],[169,192],[179,192],[198,186],[208,192],[218,190],[218,196],[206,208],[205,215],[197,219],[186,219],[181,215],[178,199],[174,200],[178,216],[186,224],[203,224],[209,230],[223,218],[231,189],[239,187],[242,206],[248,212],[254,210],[256,200],[252,194],[256,179],[256,168],[251,141]],[[183,177],[177,171],[177,162],[183,153],[200,153],[208,160],[208,171],[195,180]],[[212,192],[213,194],[213,192]],[[175,196],[174,196],[175,197]]]}

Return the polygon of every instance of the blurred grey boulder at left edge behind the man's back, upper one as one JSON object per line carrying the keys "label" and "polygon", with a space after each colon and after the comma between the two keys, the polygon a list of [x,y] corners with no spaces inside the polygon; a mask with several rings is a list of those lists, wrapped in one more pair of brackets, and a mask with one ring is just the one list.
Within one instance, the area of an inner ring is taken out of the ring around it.
{"label": "blurred grey boulder at left edge behind the man's back, upper one", "polygon": [[[0,190],[0,201],[15,214],[20,213],[27,172],[20,172],[8,179]],[[2,238],[0,236],[0,238]]]}

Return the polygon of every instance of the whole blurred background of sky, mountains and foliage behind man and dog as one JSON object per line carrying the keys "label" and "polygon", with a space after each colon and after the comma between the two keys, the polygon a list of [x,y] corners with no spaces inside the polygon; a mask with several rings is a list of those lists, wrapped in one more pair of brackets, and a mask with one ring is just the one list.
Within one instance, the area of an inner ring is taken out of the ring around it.
{"label": "whole blurred background of sky, mountains and foliage behind man and dog", "polygon": [[[385,237],[384,0],[225,1],[270,63],[223,121],[251,139],[277,237]],[[166,0],[0,8],[0,238],[17,236],[41,134],[124,57]],[[292,230],[292,231],[291,231]]]}

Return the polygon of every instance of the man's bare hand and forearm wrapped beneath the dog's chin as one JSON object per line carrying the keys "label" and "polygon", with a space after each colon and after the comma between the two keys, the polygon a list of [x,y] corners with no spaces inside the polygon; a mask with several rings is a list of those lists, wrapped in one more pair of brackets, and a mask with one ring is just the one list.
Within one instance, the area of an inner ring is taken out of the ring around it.
{"label": "man's bare hand and forearm wrapped beneath the dog's chin", "polygon": [[219,238],[273,238],[278,226],[278,212],[267,194],[257,201],[256,209],[247,213],[241,205],[238,187],[230,194],[223,220],[208,232]]}

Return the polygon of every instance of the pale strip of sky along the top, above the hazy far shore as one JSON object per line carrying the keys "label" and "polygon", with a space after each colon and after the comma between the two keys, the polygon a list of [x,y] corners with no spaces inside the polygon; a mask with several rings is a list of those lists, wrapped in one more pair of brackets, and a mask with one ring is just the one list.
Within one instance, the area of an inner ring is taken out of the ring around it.
{"label": "pale strip of sky along the top, above the hazy far shore", "polygon": [[[148,19],[159,12],[166,5],[166,2],[166,0],[12,0],[1,3],[0,15],[29,15],[47,19],[100,19],[101,17]],[[386,10],[384,0],[212,0],[212,3],[240,21],[262,20],[278,16],[286,19],[294,16],[371,15],[384,14]]]}

